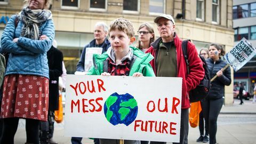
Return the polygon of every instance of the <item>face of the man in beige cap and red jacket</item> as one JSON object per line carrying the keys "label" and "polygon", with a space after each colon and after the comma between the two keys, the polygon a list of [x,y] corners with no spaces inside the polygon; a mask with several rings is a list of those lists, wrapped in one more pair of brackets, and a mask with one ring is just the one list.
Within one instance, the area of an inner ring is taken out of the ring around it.
{"label": "face of the man in beige cap and red jacket", "polygon": [[157,30],[162,38],[173,38],[175,25],[173,25],[171,20],[161,18],[157,21]]}

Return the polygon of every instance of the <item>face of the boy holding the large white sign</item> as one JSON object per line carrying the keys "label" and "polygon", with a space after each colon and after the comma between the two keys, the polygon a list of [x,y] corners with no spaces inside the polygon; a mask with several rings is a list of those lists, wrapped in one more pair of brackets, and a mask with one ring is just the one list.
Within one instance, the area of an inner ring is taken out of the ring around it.
{"label": "face of the boy holding the large white sign", "polygon": [[127,54],[129,51],[129,45],[133,43],[134,39],[129,38],[124,31],[118,29],[109,32],[109,39],[112,49],[116,53]]}

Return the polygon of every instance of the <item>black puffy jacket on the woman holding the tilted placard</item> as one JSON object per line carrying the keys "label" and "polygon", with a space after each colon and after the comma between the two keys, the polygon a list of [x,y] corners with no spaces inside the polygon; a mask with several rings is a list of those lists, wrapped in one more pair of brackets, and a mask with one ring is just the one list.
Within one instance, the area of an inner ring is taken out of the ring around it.
{"label": "black puffy jacket on the woman holding the tilted placard", "polygon": [[[207,59],[206,63],[208,65],[211,78],[216,75],[216,73],[223,67],[227,65],[227,63],[221,59],[218,61],[214,61],[212,59]],[[209,99],[220,99],[224,97],[225,93],[225,85],[231,84],[231,72],[230,67],[228,67],[225,71],[223,71],[223,75],[214,79],[211,82],[211,89],[207,98]]]}

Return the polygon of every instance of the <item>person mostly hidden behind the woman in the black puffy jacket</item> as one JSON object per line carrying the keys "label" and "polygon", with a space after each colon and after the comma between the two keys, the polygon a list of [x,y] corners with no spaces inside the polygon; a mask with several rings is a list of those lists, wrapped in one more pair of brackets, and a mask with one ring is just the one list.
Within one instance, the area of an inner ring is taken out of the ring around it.
{"label": "person mostly hidden behind the woman in the black puffy jacket", "polygon": [[[201,49],[199,52],[199,55],[204,57],[204,59],[209,58],[209,50],[208,49]],[[208,132],[208,124],[204,121],[204,115],[203,115],[203,104],[201,101],[198,101],[201,103],[202,110],[199,113],[199,132],[200,132],[200,137],[196,140],[196,142],[204,142],[207,143],[209,142],[209,132]],[[204,134],[204,128],[205,128],[205,134]]]}

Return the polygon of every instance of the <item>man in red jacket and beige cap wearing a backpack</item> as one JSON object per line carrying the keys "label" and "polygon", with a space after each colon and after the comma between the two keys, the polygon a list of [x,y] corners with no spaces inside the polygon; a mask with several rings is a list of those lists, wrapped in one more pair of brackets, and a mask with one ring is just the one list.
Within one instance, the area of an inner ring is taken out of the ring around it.
{"label": "man in red jacket and beige cap wearing a backpack", "polygon": [[[182,77],[180,142],[188,143],[188,92],[195,89],[204,77],[204,68],[196,47],[188,42],[189,74],[182,54],[182,39],[175,33],[175,22],[171,15],[161,14],[155,18],[159,37],[146,51],[154,56],[150,64],[159,77]],[[151,142],[154,143],[154,142]],[[159,142],[158,142],[159,143]],[[164,142],[163,142],[164,143]]]}

